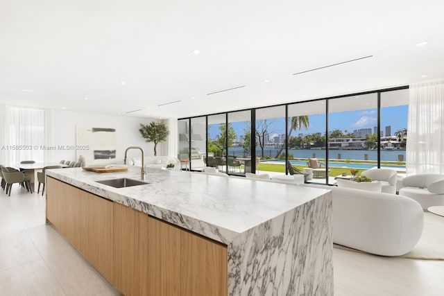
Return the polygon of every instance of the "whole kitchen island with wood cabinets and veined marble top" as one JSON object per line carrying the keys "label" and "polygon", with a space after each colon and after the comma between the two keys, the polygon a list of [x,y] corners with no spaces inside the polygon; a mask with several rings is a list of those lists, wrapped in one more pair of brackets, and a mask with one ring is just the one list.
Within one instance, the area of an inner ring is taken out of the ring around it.
{"label": "whole kitchen island with wood cabinets and veined marble top", "polygon": [[139,168],[49,170],[46,218],[125,295],[333,295],[332,193]]}

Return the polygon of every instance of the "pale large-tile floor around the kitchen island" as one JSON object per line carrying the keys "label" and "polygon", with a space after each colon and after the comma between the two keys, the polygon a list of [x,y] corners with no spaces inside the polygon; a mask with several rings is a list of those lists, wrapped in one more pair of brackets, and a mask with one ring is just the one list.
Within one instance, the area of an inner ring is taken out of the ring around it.
{"label": "pale large-tile floor around the kitchen island", "polygon": [[[334,249],[333,263],[336,296],[444,295],[444,261],[393,259]],[[44,198],[15,184],[10,197],[0,190],[0,295],[99,296],[119,292],[45,224]]]}

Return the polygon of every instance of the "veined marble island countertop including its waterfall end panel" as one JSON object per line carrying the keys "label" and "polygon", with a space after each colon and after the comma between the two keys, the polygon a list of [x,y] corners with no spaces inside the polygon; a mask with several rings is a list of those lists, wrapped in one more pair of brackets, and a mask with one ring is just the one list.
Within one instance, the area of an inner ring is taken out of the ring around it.
{"label": "veined marble island countertop including its waterfall end panel", "polygon": [[228,295],[333,295],[332,193],[293,184],[140,168],[46,174],[228,246]]}

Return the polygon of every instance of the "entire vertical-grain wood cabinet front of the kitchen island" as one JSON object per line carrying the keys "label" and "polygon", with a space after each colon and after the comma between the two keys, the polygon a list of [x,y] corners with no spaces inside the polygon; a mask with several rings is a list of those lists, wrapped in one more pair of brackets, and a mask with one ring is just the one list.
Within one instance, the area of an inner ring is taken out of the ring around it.
{"label": "entire vertical-grain wood cabinet front of the kitchen island", "polygon": [[228,295],[227,246],[52,177],[47,219],[124,295]]}

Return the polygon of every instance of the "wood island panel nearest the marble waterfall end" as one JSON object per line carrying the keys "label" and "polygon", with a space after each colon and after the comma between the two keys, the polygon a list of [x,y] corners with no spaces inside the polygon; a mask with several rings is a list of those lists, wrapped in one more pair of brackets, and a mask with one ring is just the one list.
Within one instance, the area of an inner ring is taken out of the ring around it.
{"label": "wood island panel nearest the marble waterfall end", "polygon": [[227,246],[187,231],[181,239],[181,295],[228,295]]}

